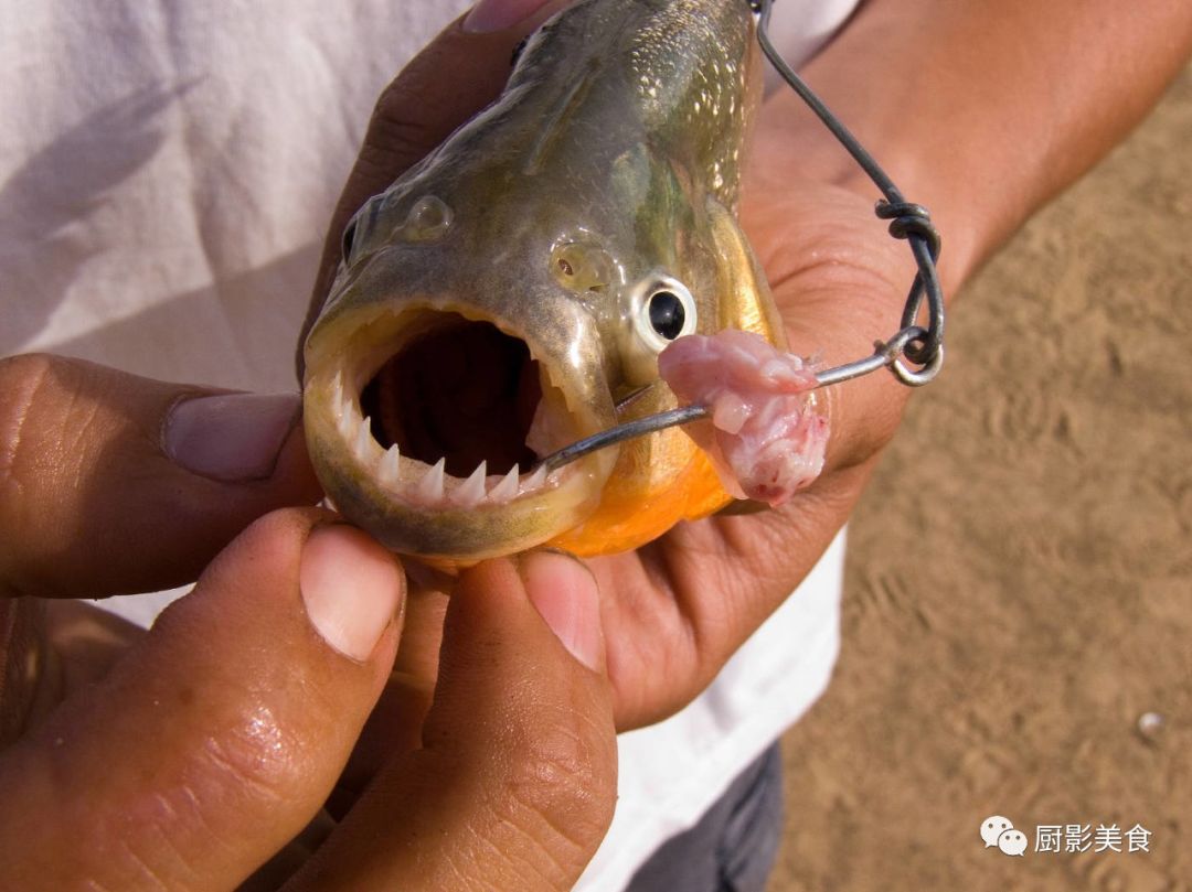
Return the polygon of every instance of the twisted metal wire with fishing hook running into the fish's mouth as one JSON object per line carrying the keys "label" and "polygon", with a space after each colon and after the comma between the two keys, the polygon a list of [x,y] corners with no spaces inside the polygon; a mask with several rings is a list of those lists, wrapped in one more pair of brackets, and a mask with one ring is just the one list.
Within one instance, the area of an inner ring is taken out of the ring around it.
{"label": "twisted metal wire with fishing hook running into the fish's mouth", "polygon": [[[923,205],[907,201],[890,177],[882,170],[874,157],[828,110],[824,101],[812,92],[803,80],[795,74],[770,40],[770,14],[775,0],[747,0],[750,8],[758,13],[757,39],[770,64],[790,86],[800,99],[815,112],[815,116],[845,148],[853,161],[874,181],[882,193],[882,199],[874,207],[879,219],[889,220],[889,233],[894,238],[905,239],[911,245],[918,273],[902,310],[901,328],[888,341],[874,344],[874,353],[864,358],[843,366],[815,373],[815,387],[850,381],[853,378],[873,374],[888,368],[901,383],[908,387],[920,387],[930,382],[939,373],[944,362],[944,293],[936,272],[936,260],[939,257],[939,232],[931,222],[931,214]],[[927,302],[927,328],[918,324],[924,300]],[[909,363],[909,364],[908,364]],[[912,367],[918,368],[912,368]],[[631,394],[622,405],[633,399]],[[615,445],[626,439],[673,428],[681,424],[707,418],[707,406],[694,405],[658,412],[633,422],[619,424],[591,437],[577,441],[555,453],[545,456],[539,467],[547,472],[561,468],[597,449]]]}

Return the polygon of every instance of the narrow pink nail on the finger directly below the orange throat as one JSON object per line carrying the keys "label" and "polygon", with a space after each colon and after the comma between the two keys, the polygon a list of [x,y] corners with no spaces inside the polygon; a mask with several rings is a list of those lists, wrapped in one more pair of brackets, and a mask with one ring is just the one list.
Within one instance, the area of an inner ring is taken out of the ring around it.
{"label": "narrow pink nail on the finger directly below the orange throat", "polygon": [[530,601],[567,651],[589,669],[604,667],[600,588],[577,557],[530,551],[517,564]]}

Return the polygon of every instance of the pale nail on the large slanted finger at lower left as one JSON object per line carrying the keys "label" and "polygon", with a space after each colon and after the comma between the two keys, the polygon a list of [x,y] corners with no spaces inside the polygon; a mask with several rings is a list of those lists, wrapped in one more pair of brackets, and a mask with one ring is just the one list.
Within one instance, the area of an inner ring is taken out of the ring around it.
{"label": "pale nail on the large slanted finger at lower left", "polygon": [[310,534],[298,585],[315,631],[358,662],[372,655],[405,595],[393,555],[367,534],[342,524]]}

